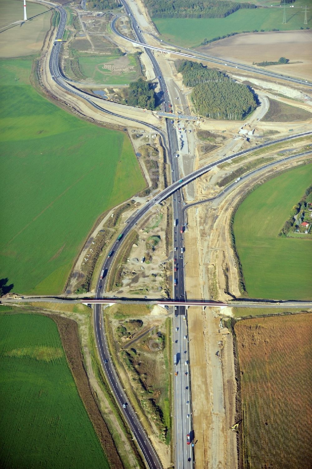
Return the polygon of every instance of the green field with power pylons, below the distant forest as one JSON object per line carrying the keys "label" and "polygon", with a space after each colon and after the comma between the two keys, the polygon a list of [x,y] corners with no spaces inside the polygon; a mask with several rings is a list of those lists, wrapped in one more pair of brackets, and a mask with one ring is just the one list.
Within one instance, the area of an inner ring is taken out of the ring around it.
{"label": "green field with power pylons, below the distant forest", "polygon": [[226,18],[153,18],[153,22],[162,39],[183,47],[195,47],[205,38],[213,39],[232,32],[305,29],[312,25],[312,9],[307,13],[307,25],[304,25],[301,8],[286,9],[286,19],[287,23],[282,24],[283,8],[257,8],[238,10]]}

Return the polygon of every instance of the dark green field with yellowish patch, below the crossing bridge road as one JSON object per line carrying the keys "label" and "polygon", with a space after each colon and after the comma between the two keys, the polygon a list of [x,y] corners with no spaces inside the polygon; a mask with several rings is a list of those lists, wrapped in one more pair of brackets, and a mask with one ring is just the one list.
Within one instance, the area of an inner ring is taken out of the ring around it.
{"label": "dark green field with yellowish patch, below the crossing bridge road", "polygon": [[108,468],[56,325],[0,315],[2,468]]}

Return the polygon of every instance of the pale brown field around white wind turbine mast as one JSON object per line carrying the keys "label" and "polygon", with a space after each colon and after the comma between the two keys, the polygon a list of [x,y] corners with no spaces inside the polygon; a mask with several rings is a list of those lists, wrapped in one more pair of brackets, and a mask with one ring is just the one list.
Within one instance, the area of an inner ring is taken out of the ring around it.
{"label": "pale brown field around white wind turbine mast", "polygon": [[0,58],[38,53],[50,27],[52,13],[44,5],[27,2],[27,17],[30,21],[22,23],[21,1],[1,0],[0,8]]}

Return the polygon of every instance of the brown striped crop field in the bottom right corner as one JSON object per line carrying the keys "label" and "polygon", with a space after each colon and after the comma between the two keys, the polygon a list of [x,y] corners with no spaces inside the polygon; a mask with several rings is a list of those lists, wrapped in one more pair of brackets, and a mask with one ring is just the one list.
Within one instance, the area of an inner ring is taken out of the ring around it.
{"label": "brown striped crop field in the bottom right corner", "polygon": [[312,315],[235,325],[243,468],[311,467]]}

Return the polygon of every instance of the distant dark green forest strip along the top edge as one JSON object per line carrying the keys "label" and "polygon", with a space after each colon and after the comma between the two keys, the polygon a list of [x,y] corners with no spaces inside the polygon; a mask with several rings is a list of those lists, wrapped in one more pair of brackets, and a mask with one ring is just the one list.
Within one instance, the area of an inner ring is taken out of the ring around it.
{"label": "distant dark green forest strip along the top edge", "polygon": [[252,3],[227,0],[145,0],[152,18],[225,18]]}

